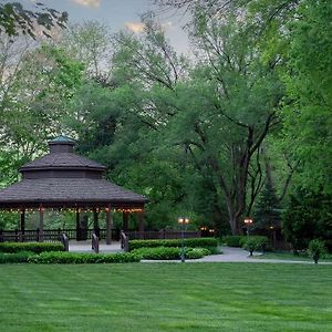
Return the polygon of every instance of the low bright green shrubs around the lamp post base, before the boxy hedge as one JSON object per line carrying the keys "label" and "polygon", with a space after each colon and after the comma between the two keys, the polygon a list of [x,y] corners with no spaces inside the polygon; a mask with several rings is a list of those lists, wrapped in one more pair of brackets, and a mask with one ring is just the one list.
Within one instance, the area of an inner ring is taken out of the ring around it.
{"label": "low bright green shrubs around the lamp post base, before the boxy hedge", "polygon": [[[152,260],[178,260],[180,259],[181,249],[178,247],[155,247],[134,249],[131,253],[138,256],[141,259]],[[187,259],[203,258],[210,255],[206,248],[186,248],[185,257]]]}

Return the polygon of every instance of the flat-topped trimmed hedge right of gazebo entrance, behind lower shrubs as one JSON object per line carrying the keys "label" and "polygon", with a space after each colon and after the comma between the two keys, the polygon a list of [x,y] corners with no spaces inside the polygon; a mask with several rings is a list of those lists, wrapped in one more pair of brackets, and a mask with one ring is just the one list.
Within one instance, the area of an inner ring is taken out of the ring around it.
{"label": "flat-topped trimmed hedge right of gazebo entrance, behind lower shrubs", "polygon": [[[129,251],[139,248],[156,247],[177,247],[181,246],[181,239],[174,240],[129,240]],[[189,238],[185,239],[185,246],[190,248],[209,248],[217,247],[218,241],[215,238]]]}

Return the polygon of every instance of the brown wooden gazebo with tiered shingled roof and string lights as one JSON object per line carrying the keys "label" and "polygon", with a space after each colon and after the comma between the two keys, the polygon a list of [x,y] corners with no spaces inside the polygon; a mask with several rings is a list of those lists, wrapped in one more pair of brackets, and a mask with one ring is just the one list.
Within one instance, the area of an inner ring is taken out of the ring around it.
{"label": "brown wooden gazebo with tiered shingled roof and string lights", "polygon": [[39,212],[39,237],[43,240],[44,211],[48,209],[76,212],[76,238],[80,239],[80,215],[93,211],[106,215],[106,243],[111,245],[113,212],[123,212],[123,229],[128,228],[128,215],[138,215],[139,231],[144,231],[144,206],[148,199],[105,179],[106,167],[74,154],[75,142],[59,136],[49,142],[50,153],[22,166],[22,180],[0,190],[0,209],[20,212],[24,238],[25,211]]}

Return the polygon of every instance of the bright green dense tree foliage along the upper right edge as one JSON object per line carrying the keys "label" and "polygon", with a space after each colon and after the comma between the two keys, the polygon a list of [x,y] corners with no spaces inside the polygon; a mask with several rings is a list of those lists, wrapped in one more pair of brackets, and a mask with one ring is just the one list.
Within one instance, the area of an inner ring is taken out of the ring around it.
{"label": "bright green dense tree foliage along the upper right edge", "polygon": [[299,160],[297,184],[332,193],[332,32],[330,1],[304,1],[288,25],[283,80],[288,103],[282,116],[283,147]]}

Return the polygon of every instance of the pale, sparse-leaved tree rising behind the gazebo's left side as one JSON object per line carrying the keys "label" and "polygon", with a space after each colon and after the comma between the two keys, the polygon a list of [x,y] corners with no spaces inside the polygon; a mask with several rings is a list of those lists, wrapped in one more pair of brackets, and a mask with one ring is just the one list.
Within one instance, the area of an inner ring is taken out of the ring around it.
{"label": "pale, sparse-leaved tree rising behind the gazebo's left side", "polygon": [[[8,54],[11,51],[6,51],[2,59]],[[50,137],[68,132],[63,118],[82,72],[82,64],[50,44],[23,49],[14,60],[2,62],[6,74],[0,96],[1,185],[17,180],[17,169],[40,155]]]}

